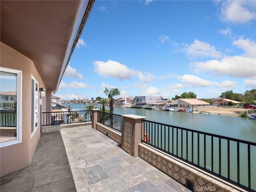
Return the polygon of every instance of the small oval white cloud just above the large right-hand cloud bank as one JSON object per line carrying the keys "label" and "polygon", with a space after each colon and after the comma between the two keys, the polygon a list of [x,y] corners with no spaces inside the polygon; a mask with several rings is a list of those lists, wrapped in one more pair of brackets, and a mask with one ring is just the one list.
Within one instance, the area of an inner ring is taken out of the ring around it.
{"label": "small oval white cloud just above the large right-hand cloud bank", "polygon": [[222,56],[221,52],[218,52],[215,47],[206,42],[194,40],[194,42],[190,45],[185,44],[186,54],[195,56],[204,56],[204,57],[212,57],[212,58],[220,58]]}

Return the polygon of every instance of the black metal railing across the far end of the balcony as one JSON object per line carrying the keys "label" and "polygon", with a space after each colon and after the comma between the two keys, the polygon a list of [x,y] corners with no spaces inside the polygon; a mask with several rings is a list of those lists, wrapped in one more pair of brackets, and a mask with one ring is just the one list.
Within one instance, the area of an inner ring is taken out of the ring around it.
{"label": "black metal railing across the far end of the balcony", "polygon": [[91,110],[42,112],[42,126],[92,121]]}

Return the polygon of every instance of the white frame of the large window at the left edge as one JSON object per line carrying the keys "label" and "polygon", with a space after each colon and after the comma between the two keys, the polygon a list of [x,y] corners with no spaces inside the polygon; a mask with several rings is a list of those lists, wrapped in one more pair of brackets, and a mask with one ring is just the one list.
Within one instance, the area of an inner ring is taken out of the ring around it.
{"label": "white frame of the large window at the left edge", "polygon": [[22,71],[0,67],[0,71],[17,74],[17,127],[16,140],[0,143],[0,148],[22,142]]}

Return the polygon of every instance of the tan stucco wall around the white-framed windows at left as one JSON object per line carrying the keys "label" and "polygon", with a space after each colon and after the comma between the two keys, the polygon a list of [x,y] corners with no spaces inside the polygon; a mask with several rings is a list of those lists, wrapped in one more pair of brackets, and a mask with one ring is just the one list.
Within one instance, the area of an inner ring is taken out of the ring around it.
{"label": "tan stucco wall around the white-framed windows at left", "polygon": [[[38,81],[38,87],[44,84],[34,66],[26,56],[20,54],[6,44],[0,44],[1,67],[22,71],[22,142],[0,148],[0,176],[14,172],[30,165],[37,143],[40,139],[40,115],[38,115],[38,128],[31,138],[31,75]],[[40,94],[39,94],[40,98]],[[38,114],[46,110],[46,97],[42,97],[42,106],[38,107]]]}

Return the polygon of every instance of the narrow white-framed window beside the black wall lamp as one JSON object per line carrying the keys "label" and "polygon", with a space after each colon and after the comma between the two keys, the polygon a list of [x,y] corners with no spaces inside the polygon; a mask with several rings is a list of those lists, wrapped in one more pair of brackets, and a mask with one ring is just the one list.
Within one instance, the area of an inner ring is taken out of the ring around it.
{"label": "narrow white-framed window beside the black wall lamp", "polygon": [[31,136],[38,127],[38,82],[31,78]]}

